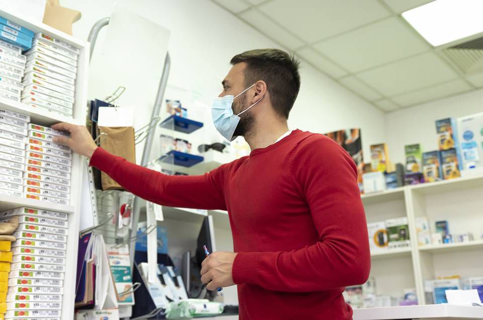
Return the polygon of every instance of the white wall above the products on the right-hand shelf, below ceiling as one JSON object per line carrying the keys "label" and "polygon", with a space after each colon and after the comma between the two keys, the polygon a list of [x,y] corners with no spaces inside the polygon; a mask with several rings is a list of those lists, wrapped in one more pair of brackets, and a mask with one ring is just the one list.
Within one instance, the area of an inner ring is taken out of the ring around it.
{"label": "white wall above the products on the right-hand shelf, below ceiling", "polygon": [[404,163],[404,146],[421,143],[423,151],[437,150],[435,120],[483,112],[483,90],[385,115],[385,139],[391,161]]}

